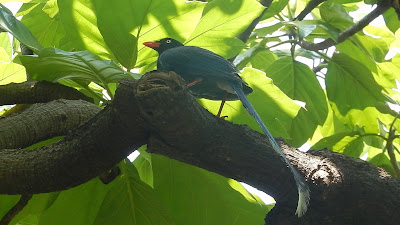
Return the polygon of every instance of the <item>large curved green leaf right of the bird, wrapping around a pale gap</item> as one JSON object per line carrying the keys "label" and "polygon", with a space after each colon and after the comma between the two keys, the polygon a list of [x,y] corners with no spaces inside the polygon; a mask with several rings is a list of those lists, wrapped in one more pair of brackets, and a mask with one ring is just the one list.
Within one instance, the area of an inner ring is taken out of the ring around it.
{"label": "large curved green leaf right of the bird, wrapping around a pale gap", "polygon": [[276,86],[290,98],[305,102],[305,109],[291,122],[292,144],[299,146],[322,125],[328,114],[326,96],[314,72],[300,62],[285,57],[272,63],[266,70]]}

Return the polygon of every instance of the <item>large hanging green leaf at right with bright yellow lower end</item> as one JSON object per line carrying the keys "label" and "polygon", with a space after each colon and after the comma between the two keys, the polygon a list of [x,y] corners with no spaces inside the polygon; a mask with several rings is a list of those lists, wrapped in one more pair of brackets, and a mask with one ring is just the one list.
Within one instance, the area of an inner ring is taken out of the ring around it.
{"label": "large hanging green leaf at right with bright yellow lower end", "polygon": [[367,132],[378,131],[380,113],[375,106],[386,98],[370,70],[345,54],[336,54],[329,61],[325,82],[328,99],[342,121],[365,126]]}

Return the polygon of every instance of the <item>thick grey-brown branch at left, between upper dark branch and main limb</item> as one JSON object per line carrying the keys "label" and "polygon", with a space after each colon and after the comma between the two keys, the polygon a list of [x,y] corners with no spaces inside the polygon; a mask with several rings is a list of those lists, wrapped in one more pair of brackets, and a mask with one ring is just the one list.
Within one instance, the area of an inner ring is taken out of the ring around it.
{"label": "thick grey-brown branch at left, between upper dark branch and main limb", "polygon": [[83,100],[38,103],[0,120],[0,149],[25,148],[62,136],[88,121],[100,108]]}

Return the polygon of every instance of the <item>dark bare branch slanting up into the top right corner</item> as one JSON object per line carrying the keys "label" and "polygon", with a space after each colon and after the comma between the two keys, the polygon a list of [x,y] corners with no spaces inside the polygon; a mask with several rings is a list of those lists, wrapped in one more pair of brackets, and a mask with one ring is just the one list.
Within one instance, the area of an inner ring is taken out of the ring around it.
{"label": "dark bare branch slanting up into the top right corner", "polygon": [[378,16],[382,15],[382,13],[386,12],[391,7],[391,1],[390,0],[385,0],[378,4],[378,6],[372,10],[368,15],[363,17],[360,21],[355,23],[353,26],[347,28],[345,31],[341,32],[338,36],[337,41],[328,38],[325,41],[322,41],[320,43],[311,43],[305,40],[301,40],[298,44],[307,50],[311,51],[317,51],[317,50],[322,50],[329,48],[335,44],[342,43],[345,41],[347,38],[353,36],[357,32],[361,31],[364,27],[366,27],[368,24],[370,24],[375,18]]}

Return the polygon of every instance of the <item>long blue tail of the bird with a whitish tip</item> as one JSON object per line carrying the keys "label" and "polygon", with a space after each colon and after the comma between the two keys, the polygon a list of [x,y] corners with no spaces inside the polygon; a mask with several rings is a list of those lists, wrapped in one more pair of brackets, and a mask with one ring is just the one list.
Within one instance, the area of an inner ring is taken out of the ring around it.
{"label": "long blue tail of the bird with a whitish tip", "polygon": [[240,101],[242,102],[243,106],[247,109],[247,112],[249,112],[249,114],[252,117],[254,117],[254,119],[257,121],[258,125],[261,127],[261,129],[264,131],[264,133],[267,135],[275,152],[278,153],[280,156],[282,156],[282,158],[285,160],[286,164],[289,166],[289,169],[293,174],[294,180],[296,181],[297,190],[299,192],[299,200],[297,202],[297,209],[296,209],[295,214],[298,217],[304,215],[304,213],[307,211],[307,205],[310,200],[310,189],[308,188],[308,185],[306,184],[304,177],[300,176],[299,172],[297,172],[297,170],[292,166],[292,164],[290,164],[289,160],[283,154],[278,143],[276,143],[274,137],[272,137],[271,133],[268,131],[267,127],[262,122],[260,116],[254,109],[253,105],[247,99],[246,95],[244,94],[244,92],[242,90],[241,84],[234,83],[234,82],[231,82],[230,84],[231,84],[232,88],[235,90],[235,92],[236,92],[237,96],[239,97]]}

